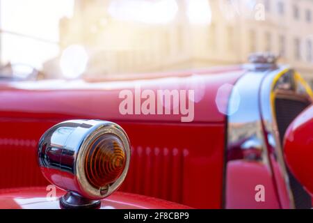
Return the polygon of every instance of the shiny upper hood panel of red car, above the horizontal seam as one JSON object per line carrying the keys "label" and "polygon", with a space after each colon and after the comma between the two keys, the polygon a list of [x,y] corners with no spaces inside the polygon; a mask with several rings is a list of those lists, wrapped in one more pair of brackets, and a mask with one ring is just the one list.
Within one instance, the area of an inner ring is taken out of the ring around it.
{"label": "shiny upper hood panel of red car, above the horizontal seam", "polygon": [[[216,95],[220,87],[234,84],[243,75],[241,67],[195,70],[172,74],[145,75],[134,79],[86,82],[83,80],[46,80],[38,82],[0,83],[0,116],[44,118],[77,118],[127,121],[181,121],[177,115],[131,115],[119,112],[119,93],[135,88],[157,90],[194,90],[195,122],[221,122],[230,91],[221,93],[220,108]],[[226,87],[227,89],[227,87]],[[156,93],[157,95],[157,93]],[[83,106],[82,106],[83,105]]]}

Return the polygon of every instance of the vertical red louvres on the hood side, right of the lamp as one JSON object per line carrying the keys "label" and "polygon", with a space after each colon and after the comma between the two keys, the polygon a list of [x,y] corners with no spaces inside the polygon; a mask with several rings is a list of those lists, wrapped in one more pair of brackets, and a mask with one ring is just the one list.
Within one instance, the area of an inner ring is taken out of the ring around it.
{"label": "vertical red louvres on the hood side, right of the lamp", "polygon": [[184,157],[178,148],[131,148],[129,174],[121,190],[182,203]]}

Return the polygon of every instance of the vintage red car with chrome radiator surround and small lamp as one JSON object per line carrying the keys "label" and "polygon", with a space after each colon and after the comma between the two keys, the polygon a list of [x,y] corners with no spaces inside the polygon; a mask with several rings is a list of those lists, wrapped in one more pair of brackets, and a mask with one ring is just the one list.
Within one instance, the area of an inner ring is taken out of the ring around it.
{"label": "vintage red car with chrome radiator surround and small lamp", "polygon": [[[296,70],[275,62],[271,55],[257,54],[245,66],[118,79],[1,82],[0,208],[60,208],[59,199],[95,204],[101,196],[74,182],[79,157],[63,149],[70,128],[93,120],[121,126],[131,148],[120,192],[102,200],[102,208],[311,208],[311,196],[289,170],[283,148],[289,124],[312,105],[312,91]],[[312,121],[312,109],[307,116]],[[53,126],[63,126],[64,132],[56,134]],[[40,161],[38,167],[40,159],[45,164]],[[81,167],[84,173],[88,164]],[[110,169],[109,188],[121,176],[115,170]],[[106,174],[105,168],[99,171]],[[89,183],[95,177],[90,173]],[[56,200],[47,201],[51,183],[83,197],[58,190]]]}

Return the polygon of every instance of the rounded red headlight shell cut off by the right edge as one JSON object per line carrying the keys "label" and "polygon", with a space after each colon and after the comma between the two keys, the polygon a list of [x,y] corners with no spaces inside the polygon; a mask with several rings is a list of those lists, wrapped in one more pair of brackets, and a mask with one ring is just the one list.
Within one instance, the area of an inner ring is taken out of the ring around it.
{"label": "rounded red headlight shell cut off by the right edge", "polygon": [[291,171],[313,195],[313,106],[289,125],[284,137],[284,154]]}

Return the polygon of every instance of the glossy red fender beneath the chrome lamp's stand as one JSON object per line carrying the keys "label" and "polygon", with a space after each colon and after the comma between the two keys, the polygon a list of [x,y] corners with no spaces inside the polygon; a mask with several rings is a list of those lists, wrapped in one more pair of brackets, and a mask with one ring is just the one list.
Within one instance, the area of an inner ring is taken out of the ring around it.
{"label": "glossy red fender beneath the chrome lamp's stand", "polygon": [[[59,199],[65,192],[46,187],[0,190],[0,209],[61,209]],[[115,192],[101,201],[101,209],[188,209],[188,206],[137,194]]]}

